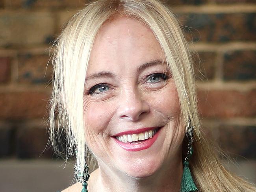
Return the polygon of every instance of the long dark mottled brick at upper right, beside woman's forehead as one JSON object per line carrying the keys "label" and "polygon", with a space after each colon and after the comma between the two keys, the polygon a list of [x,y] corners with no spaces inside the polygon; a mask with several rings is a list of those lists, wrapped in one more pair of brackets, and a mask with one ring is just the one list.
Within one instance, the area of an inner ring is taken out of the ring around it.
{"label": "long dark mottled brick at upper right, beside woman's forehead", "polygon": [[180,13],[187,41],[256,41],[256,13]]}

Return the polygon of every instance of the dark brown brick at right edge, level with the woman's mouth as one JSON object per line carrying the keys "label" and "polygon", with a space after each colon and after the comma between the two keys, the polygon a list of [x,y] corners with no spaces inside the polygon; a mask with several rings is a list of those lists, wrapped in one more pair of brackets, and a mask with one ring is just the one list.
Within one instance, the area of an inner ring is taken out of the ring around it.
{"label": "dark brown brick at right edge, level with the woman's mouth", "polygon": [[256,127],[221,125],[219,128],[220,147],[231,157],[256,159]]}

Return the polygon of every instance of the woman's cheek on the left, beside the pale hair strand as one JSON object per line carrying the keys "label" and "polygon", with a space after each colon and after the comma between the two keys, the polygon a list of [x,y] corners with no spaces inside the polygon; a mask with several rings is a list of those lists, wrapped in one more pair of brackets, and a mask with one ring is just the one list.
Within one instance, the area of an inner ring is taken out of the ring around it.
{"label": "woman's cheek on the left, beside the pale hair strand", "polygon": [[111,119],[113,105],[108,102],[95,102],[85,100],[83,105],[83,115],[86,132],[93,135],[103,134]]}

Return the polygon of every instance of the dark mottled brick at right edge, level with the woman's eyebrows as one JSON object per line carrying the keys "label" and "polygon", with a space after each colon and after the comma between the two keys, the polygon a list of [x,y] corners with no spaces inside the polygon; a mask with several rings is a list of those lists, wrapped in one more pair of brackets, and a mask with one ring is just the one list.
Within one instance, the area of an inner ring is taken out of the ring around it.
{"label": "dark mottled brick at right edge, level with the woman's eyebrows", "polygon": [[225,80],[255,80],[256,51],[240,50],[225,53],[223,74]]}

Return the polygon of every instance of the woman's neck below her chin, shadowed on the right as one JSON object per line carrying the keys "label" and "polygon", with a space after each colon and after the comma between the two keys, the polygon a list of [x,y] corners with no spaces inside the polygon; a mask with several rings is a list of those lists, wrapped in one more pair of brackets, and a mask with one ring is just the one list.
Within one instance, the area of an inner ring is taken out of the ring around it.
{"label": "woman's neck below her chin, shadowed on the right", "polygon": [[[88,191],[104,192],[179,192],[182,180],[182,158],[171,161],[163,166],[153,175],[145,178],[130,177],[127,174],[117,174],[109,168],[99,168],[94,173],[94,179],[88,185]],[[93,186],[92,186],[93,185]]]}

